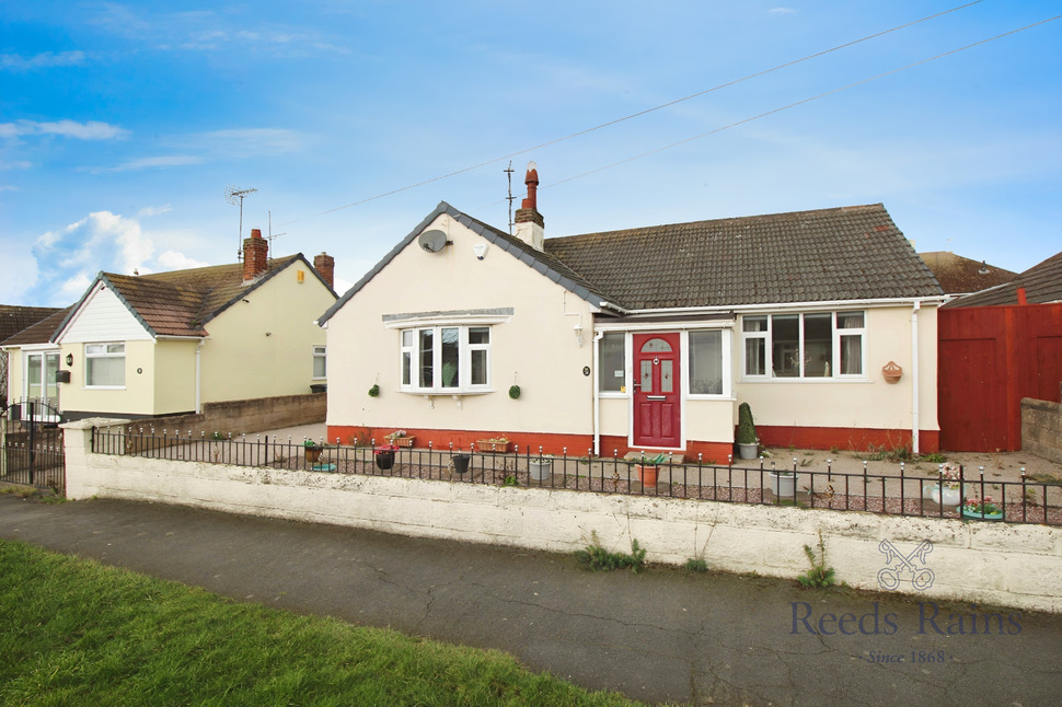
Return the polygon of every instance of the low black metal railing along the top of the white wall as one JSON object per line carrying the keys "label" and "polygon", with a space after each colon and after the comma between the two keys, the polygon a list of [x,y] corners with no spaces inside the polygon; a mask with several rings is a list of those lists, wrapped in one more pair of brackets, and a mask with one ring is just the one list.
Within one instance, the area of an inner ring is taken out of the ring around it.
{"label": "low black metal railing along the top of the white wall", "polygon": [[[1062,525],[1062,485],[1029,478],[1019,482],[985,479],[959,467],[955,478],[943,472],[909,473],[898,464],[893,473],[841,473],[783,466],[769,460],[750,466],[695,463],[650,465],[612,456],[542,454],[515,448],[496,452],[451,447],[423,449],[371,441],[365,445],[327,444],[324,440],[293,440],[267,434],[218,436],[142,428],[99,428],[93,451],[239,466],[301,472],[365,474],[438,479],[494,486],[566,489],[599,494],[630,494],[735,503],[827,508],[891,515],[1005,520],[1012,523]],[[948,497],[953,497],[949,499]],[[971,512],[966,501],[988,500]],[[1001,518],[991,512],[995,507]]]}

